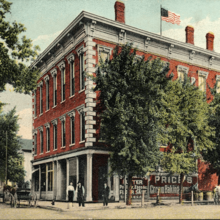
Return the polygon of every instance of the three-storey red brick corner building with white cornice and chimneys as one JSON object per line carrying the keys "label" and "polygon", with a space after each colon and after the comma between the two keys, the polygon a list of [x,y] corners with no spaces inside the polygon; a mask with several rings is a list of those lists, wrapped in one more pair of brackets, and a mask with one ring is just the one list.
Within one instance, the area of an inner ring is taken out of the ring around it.
{"label": "three-storey red brick corner building with white cornice and chimneys", "polygon": [[[66,200],[70,181],[74,187],[82,182],[88,202],[102,199],[104,181],[114,201],[125,199],[126,178],[107,175],[110,148],[99,138],[98,94],[85,74],[94,75],[100,57],[111,59],[116,45],[132,42],[138,56],[169,62],[174,79],[188,75],[206,91],[207,98],[211,97],[207,83],[213,87],[220,81],[220,54],[213,51],[213,33],[206,35],[207,49],[202,49],[194,46],[191,26],[186,27],[183,43],[126,25],[121,1],[115,2],[114,9],[115,20],[82,11],[31,65],[41,70],[32,94],[32,182],[40,199]],[[209,164],[198,161],[198,173],[186,178],[185,187],[198,182],[199,189],[213,190],[218,177],[210,169]],[[178,175],[158,171],[148,178],[134,177],[133,183],[134,199],[140,198],[141,188],[148,189],[146,197],[154,197],[158,187],[163,187],[162,196],[178,198]]]}

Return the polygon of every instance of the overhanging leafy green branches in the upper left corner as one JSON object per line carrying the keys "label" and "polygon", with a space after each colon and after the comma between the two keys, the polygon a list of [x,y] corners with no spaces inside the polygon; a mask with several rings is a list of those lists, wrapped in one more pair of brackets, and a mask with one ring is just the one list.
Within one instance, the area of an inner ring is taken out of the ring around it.
{"label": "overhanging leafy green branches in the upper left corner", "polygon": [[26,30],[23,24],[6,20],[11,4],[0,0],[0,92],[8,83],[16,92],[28,94],[36,87],[39,71],[28,68],[25,62],[37,56],[39,47],[33,47],[26,36],[19,37]]}

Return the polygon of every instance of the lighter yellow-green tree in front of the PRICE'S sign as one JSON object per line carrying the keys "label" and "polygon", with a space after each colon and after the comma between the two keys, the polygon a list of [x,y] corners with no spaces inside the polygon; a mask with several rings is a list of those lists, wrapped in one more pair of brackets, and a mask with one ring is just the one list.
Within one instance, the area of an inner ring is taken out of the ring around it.
{"label": "lighter yellow-green tree in front of the PRICE'S sign", "polygon": [[183,82],[170,81],[166,94],[164,123],[168,125],[166,138],[171,152],[164,153],[161,166],[168,172],[180,174],[181,203],[184,175],[196,171],[195,160],[202,150],[214,147],[211,140],[214,131],[209,125],[206,95],[192,85],[187,76]]}

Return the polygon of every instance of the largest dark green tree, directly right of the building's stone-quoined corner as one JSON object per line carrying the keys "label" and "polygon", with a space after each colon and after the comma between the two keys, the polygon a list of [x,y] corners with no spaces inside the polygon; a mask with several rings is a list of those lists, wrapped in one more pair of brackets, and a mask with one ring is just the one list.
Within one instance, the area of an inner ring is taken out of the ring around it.
{"label": "largest dark green tree, directly right of the building's stone-quoined corner", "polygon": [[113,58],[101,61],[96,72],[98,116],[102,139],[111,146],[112,172],[128,176],[127,205],[131,204],[132,176],[155,170],[161,153],[161,100],[170,78],[160,59],[138,58],[131,44],[116,47]]}

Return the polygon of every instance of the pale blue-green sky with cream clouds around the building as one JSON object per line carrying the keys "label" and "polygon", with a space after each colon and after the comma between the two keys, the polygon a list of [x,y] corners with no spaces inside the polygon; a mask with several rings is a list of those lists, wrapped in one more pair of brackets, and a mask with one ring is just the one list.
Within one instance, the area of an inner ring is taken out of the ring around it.
{"label": "pale blue-green sky with cream clouds around the building", "polygon": [[[26,35],[41,52],[65,29],[81,11],[88,11],[115,19],[115,0],[8,0],[12,2],[9,22],[19,22],[27,28]],[[220,53],[220,0],[124,0],[125,23],[160,33],[160,6],[180,15],[181,24],[162,22],[162,35],[185,42],[185,27],[194,27],[194,44],[206,47],[205,35],[215,35],[214,51]],[[32,99],[30,95],[13,92],[9,85],[0,94],[0,101],[8,103],[6,113],[16,106],[19,115],[19,135],[32,139]]]}

